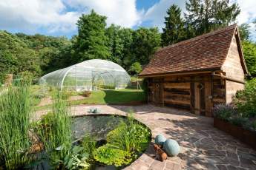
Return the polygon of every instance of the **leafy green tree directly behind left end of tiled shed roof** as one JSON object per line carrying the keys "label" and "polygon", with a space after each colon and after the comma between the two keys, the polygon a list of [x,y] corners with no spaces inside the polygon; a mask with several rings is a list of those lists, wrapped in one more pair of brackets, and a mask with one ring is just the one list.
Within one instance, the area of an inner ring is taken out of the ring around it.
{"label": "leafy green tree directly behind left end of tiled shed roof", "polygon": [[130,64],[138,61],[140,64],[148,64],[151,55],[160,47],[161,35],[157,28],[140,27],[134,32],[133,43],[131,45]]}

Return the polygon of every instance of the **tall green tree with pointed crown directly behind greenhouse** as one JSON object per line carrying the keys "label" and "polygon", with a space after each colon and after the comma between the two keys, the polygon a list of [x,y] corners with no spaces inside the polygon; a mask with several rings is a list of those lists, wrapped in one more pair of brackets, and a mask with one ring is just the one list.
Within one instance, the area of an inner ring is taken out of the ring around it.
{"label": "tall green tree with pointed crown directly behind greenhouse", "polygon": [[93,58],[108,59],[108,39],[105,35],[106,17],[99,16],[93,10],[90,14],[82,16],[77,21],[78,36],[74,44],[77,61]]}

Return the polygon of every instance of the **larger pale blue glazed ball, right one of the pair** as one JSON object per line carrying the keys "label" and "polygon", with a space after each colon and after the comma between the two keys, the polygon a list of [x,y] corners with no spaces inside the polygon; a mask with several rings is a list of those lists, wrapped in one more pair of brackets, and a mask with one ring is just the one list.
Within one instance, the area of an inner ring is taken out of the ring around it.
{"label": "larger pale blue glazed ball, right one of the pair", "polygon": [[163,149],[165,149],[165,152],[166,154],[168,154],[168,156],[172,156],[172,157],[180,153],[179,144],[172,139],[168,139],[165,141],[165,143],[163,144]]}

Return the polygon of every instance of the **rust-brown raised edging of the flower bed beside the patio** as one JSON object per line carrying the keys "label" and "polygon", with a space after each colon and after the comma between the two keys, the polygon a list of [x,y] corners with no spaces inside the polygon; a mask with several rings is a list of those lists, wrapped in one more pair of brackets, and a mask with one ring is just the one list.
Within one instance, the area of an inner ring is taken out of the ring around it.
{"label": "rust-brown raised edging of the flower bed beside the patio", "polygon": [[223,132],[236,137],[241,142],[246,143],[256,150],[256,133],[249,130],[243,129],[240,126],[235,126],[232,123],[229,123],[225,120],[219,118],[214,118],[214,127],[222,130]]}

